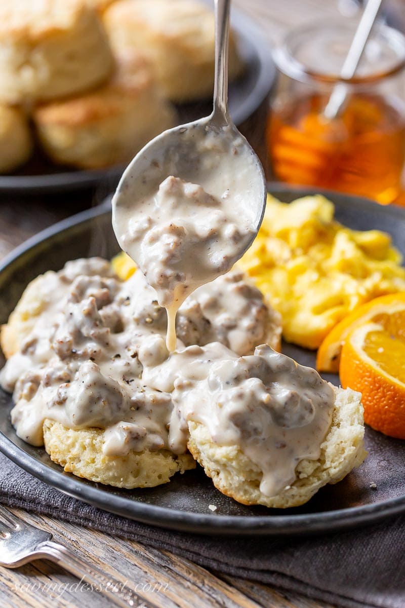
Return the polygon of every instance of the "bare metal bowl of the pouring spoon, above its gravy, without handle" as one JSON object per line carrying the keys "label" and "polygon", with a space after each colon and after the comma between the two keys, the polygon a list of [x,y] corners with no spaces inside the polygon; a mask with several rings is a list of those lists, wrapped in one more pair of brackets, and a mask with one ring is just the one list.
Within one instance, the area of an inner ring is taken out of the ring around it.
{"label": "bare metal bowl of the pouring spoon, above its gravy, without handle", "polygon": [[136,207],[171,175],[200,184],[212,195],[232,188],[254,226],[242,256],[262,223],[267,185],[259,159],[233,122],[219,124],[211,115],[152,139],[123,173],[113,198],[113,223],[121,208]]}

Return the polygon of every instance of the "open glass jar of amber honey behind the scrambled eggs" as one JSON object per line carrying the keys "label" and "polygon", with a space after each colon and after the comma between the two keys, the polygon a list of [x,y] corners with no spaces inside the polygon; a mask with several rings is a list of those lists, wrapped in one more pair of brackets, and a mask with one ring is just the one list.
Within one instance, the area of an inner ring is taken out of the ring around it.
{"label": "open glass jar of amber honey behind the scrambled eggs", "polygon": [[[274,58],[282,76],[267,125],[276,179],[368,196],[389,204],[401,193],[405,161],[405,37],[377,22],[355,77],[339,71],[355,24],[291,32]],[[344,83],[332,119],[325,107]]]}

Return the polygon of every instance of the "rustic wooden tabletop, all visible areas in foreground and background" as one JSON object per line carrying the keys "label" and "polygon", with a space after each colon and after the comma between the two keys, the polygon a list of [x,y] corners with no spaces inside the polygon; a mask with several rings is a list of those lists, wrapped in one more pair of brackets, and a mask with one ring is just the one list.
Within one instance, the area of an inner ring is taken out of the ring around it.
{"label": "rustic wooden tabletop, all visible areas in foreground and background", "polygon": [[[393,0],[395,2],[395,0]],[[334,0],[234,0],[264,28],[269,41],[277,41],[288,27],[336,15]],[[89,200],[72,196],[69,203],[55,201],[0,201],[0,258],[46,226],[89,206]],[[330,604],[272,589],[270,586],[209,572],[169,553],[78,525],[16,510],[27,522],[52,531],[55,540],[69,545],[85,558],[103,564],[123,583],[138,584],[140,595],[162,608],[328,608]],[[118,574],[117,574],[118,573]],[[88,592],[77,579],[47,561],[6,570],[0,568],[0,607],[112,606],[97,592]]]}

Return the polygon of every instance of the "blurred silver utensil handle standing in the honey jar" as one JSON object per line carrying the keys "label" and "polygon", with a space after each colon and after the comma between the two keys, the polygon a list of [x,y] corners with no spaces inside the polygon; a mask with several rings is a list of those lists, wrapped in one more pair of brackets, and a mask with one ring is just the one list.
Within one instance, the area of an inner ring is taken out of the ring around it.
{"label": "blurred silver utensil handle standing in the honey jar", "polygon": [[[350,80],[355,75],[359,61],[361,60],[367,40],[375,23],[378,11],[383,0],[368,0],[366,8],[361,16],[355,35],[350,44],[349,52],[339,74],[342,80]],[[347,100],[347,84],[339,82],[333,88],[328,103],[324,109],[324,117],[333,120],[342,112]]]}

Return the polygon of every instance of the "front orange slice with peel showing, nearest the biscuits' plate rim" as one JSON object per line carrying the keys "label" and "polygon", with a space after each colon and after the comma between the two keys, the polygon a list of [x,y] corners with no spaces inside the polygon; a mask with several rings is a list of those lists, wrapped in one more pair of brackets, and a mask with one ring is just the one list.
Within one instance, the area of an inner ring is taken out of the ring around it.
{"label": "front orange slice with peel showing, nearest the biscuits' plate rim", "polygon": [[[395,330],[395,328],[393,328]],[[405,337],[366,323],[345,339],[340,379],[362,394],[364,421],[390,437],[405,439]]]}

